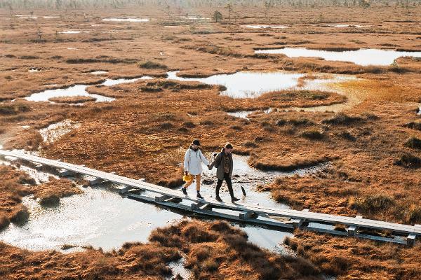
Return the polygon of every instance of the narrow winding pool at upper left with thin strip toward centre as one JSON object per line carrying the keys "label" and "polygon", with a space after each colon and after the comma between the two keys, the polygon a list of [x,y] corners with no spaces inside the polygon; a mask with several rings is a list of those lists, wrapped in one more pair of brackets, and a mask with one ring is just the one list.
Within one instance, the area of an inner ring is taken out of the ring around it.
{"label": "narrow winding pool at upper left with thin strip toward centre", "polygon": [[[112,85],[119,85],[121,83],[134,83],[137,80],[148,80],[152,79],[149,76],[142,76],[140,78],[119,78],[119,79],[107,79],[101,85],[112,86]],[[105,97],[99,94],[91,94],[86,91],[86,87],[88,85],[72,85],[71,87],[66,87],[62,89],[55,89],[55,90],[44,90],[44,92],[38,92],[31,94],[29,97],[25,97],[28,101],[33,102],[48,102],[49,99],[53,97],[93,97],[95,98],[95,102],[112,102],[115,98],[112,97]],[[54,102],[51,102],[54,103]]]}

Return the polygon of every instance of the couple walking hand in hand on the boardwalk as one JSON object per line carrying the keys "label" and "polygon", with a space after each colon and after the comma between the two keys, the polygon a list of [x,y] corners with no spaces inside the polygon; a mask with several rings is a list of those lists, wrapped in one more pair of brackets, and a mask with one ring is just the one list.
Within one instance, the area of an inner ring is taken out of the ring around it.
{"label": "couple walking hand in hand on the boardwalk", "polygon": [[215,157],[213,162],[209,163],[203,153],[200,151],[199,146],[200,141],[198,139],[194,139],[185,153],[184,169],[186,183],[185,186],[181,188],[182,193],[187,195],[187,188],[192,185],[194,177],[196,177],[196,196],[197,198],[203,199],[203,197],[200,195],[201,174],[203,172],[201,163],[203,162],[203,164],[208,166],[209,170],[213,169],[213,167],[216,167],[217,169],[216,176],[218,177],[218,183],[216,183],[215,199],[218,200],[218,202],[222,202],[219,196],[219,191],[222,186],[222,182],[225,180],[225,182],[227,182],[229,195],[231,195],[231,201],[239,201],[239,198],[234,197],[231,181],[232,167],[234,166],[232,162],[232,149],[234,147],[231,144],[225,145],[225,147],[222,148],[222,151]]}

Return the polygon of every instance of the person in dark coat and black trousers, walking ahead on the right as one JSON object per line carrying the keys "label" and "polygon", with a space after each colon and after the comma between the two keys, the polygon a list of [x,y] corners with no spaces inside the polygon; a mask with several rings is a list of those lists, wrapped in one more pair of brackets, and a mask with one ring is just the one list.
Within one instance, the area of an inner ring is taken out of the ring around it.
{"label": "person in dark coat and black trousers, walking ahead on the right", "polygon": [[218,183],[216,183],[216,197],[215,199],[218,202],[222,202],[219,191],[222,186],[222,182],[225,180],[227,182],[229,195],[231,195],[231,201],[239,201],[238,198],[234,197],[234,190],[232,190],[232,168],[234,166],[232,162],[232,149],[234,147],[231,144],[225,145],[225,148],[222,148],[222,151],[218,153],[215,160],[209,165],[209,170],[213,167],[216,167],[216,176],[218,177]]}

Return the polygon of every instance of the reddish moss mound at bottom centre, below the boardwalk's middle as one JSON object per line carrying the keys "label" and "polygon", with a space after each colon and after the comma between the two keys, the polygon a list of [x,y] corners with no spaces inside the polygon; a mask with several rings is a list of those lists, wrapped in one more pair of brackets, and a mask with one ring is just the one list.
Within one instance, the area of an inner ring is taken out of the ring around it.
{"label": "reddish moss mound at bottom centre, below the boardwalk's middle", "polygon": [[322,279],[311,262],[270,253],[247,238],[225,221],[194,220],[156,229],[149,241],[180,248],[195,279]]}

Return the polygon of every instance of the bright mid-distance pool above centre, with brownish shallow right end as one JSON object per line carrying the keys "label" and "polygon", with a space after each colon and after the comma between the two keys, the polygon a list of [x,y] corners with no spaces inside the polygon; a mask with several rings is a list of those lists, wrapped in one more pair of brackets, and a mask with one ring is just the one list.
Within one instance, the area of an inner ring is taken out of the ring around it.
{"label": "bright mid-distance pool above centre, with brownish shallow right end", "polygon": [[[329,75],[320,76],[313,80],[305,80],[300,86],[299,78],[304,78],[304,73],[288,72],[236,72],[232,74],[218,74],[206,78],[182,78],[177,76],[178,71],[168,72],[168,79],[181,81],[195,81],[208,85],[224,85],[227,90],[220,92],[232,98],[255,98],[266,92],[276,90],[329,90],[329,83],[338,83],[355,79],[353,76]],[[329,78],[333,77],[333,78]],[[330,89],[330,91],[332,91]]]}

